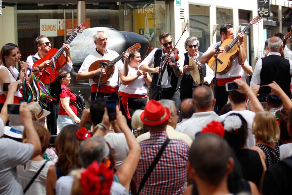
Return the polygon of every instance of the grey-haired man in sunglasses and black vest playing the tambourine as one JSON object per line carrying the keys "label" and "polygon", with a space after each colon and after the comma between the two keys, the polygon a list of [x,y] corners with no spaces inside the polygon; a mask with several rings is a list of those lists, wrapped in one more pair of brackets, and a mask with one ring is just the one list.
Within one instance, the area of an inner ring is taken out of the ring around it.
{"label": "grey-haired man in sunglasses and black vest playing the tambourine", "polygon": [[[197,58],[200,61],[203,53],[198,50],[200,46],[199,39],[197,37],[188,37],[185,40],[185,50],[187,51],[185,55],[185,61],[183,66],[183,74],[180,81],[180,99],[192,98],[194,89],[197,87],[195,84],[190,70],[194,70],[194,66],[188,65],[190,58]],[[206,64],[201,64],[203,75],[204,75],[204,84],[211,84],[213,80],[213,70]]]}

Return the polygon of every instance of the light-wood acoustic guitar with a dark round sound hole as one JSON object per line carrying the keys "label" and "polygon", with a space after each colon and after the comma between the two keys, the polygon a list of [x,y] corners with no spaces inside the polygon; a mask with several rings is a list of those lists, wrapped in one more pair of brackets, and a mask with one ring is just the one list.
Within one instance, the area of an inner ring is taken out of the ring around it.
{"label": "light-wood acoustic guitar with a dark round sound hole", "polygon": [[[253,24],[258,23],[262,19],[262,15],[260,14],[253,18],[248,25],[241,31],[245,33]],[[235,37],[234,39],[225,39],[221,45],[221,47],[224,47],[224,52],[218,54],[217,58],[217,73],[220,75],[223,75],[229,71],[232,65],[232,61],[234,58],[238,56],[239,47],[238,47],[238,37]],[[215,71],[215,55],[210,58],[208,61],[209,67]]]}

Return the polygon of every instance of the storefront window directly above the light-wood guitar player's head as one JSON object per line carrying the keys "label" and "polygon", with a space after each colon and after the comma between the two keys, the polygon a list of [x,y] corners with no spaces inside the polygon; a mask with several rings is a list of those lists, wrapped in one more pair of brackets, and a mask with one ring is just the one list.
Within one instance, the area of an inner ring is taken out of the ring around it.
{"label": "storefront window directly above the light-wood guitar player's head", "polygon": [[225,8],[216,8],[216,15],[217,20],[216,24],[218,24],[217,31],[216,31],[216,40],[217,42],[221,40],[220,36],[220,26],[223,23],[231,23],[233,25],[233,13],[232,9],[225,9]]}

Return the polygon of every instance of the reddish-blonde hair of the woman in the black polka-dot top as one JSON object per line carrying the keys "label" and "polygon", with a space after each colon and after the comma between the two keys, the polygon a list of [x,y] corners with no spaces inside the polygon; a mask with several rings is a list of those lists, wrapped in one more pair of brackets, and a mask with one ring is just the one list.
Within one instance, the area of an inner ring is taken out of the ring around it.
{"label": "reddish-blonde hair of the woman in the black polka-dot top", "polygon": [[256,139],[266,143],[279,141],[280,127],[276,118],[268,111],[258,112],[253,119],[253,134]]}

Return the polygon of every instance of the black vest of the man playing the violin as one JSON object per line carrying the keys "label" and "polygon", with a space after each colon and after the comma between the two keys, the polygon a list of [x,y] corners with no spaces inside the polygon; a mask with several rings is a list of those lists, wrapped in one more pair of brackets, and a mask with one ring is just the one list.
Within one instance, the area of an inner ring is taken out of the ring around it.
{"label": "black vest of the man playing the violin", "polygon": [[[159,48],[154,53],[154,68],[157,67],[157,66],[160,66],[159,58],[161,57],[161,55],[162,55],[162,49]],[[167,71],[168,76],[170,76],[170,84],[171,84],[171,87],[172,87],[172,91],[174,93],[178,89],[178,87],[180,86],[180,79],[179,79],[179,77],[175,76],[175,74],[173,72],[173,68],[171,68],[168,65],[168,62],[165,65],[167,66],[165,71]],[[160,77],[160,73],[159,74],[153,74],[152,82],[151,82],[151,85],[150,85],[150,90],[153,89],[154,86],[158,85],[159,77]]]}

